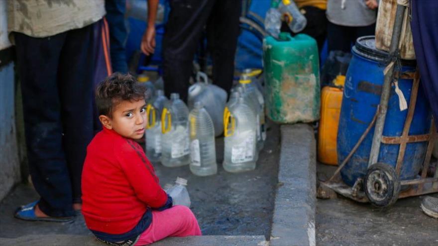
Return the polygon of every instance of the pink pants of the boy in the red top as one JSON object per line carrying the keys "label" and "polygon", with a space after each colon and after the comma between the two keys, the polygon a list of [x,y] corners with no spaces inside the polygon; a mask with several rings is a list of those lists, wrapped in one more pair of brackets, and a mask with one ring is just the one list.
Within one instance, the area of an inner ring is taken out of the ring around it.
{"label": "pink pants of the boy in the red top", "polygon": [[190,208],[174,206],[152,211],[152,223],[138,239],[136,246],[148,245],[167,237],[201,236],[198,221]]}

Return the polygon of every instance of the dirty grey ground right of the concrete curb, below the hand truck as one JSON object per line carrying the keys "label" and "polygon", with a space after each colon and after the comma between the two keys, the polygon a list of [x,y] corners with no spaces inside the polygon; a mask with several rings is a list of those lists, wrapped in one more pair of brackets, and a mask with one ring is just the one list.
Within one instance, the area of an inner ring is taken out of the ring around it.
{"label": "dirty grey ground right of the concrete curb, below the hand truck", "polygon": [[[329,177],[334,170],[334,166],[317,166],[319,176]],[[433,196],[438,197],[438,194]],[[387,209],[357,203],[340,195],[335,199],[318,199],[317,245],[438,245],[438,220],[422,212],[423,197],[399,199]]]}

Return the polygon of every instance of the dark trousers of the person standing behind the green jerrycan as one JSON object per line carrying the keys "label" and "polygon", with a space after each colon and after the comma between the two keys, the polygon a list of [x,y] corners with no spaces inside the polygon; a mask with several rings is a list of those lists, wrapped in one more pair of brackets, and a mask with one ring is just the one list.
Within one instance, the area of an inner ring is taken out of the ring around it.
{"label": "dark trousers of the person standing behind the green jerrycan", "polygon": [[[300,10],[304,12],[304,16],[307,19],[307,25],[300,33],[313,37],[317,41],[318,50],[321,52],[327,38],[328,20],[326,10],[314,6],[304,6]],[[281,23],[281,31],[294,34],[284,21]]]}

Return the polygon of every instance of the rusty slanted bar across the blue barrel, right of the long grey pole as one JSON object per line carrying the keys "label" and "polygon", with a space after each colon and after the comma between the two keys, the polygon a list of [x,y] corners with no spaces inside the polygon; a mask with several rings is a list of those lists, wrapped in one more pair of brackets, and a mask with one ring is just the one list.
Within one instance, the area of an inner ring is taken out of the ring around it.
{"label": "rusty slanted bar across the blue barrel, right of the long grey pole", "polygon": [[409,138],[409,129],[411,128],[412,119],[414,118],[415,104],[417,104],[418,85],[420,84],[420,72],[418,69],[415,71],[414,82],[411,88],[411,98],[409,100],[408,115],[406,115],[405,126],[403,127],[403,133],[400,137],[400,149],[399,156],[397,157],[397,165],[395,171],[400,176],[400,170],[402,169],[403,160],[405,159],[406,145]]}

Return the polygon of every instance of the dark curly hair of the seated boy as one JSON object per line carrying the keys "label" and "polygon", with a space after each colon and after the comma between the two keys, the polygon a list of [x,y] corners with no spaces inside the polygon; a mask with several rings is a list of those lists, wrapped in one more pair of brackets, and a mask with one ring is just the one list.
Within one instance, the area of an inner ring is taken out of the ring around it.
{"label": "dark curly hair of the seated boy", "polygon": [[114,73],[100,82],[96,88],[96,106],[99,115],[112,117],[115,106],[121,101],[146,100],[146,88],[130,74]]}

